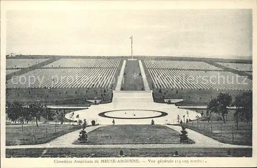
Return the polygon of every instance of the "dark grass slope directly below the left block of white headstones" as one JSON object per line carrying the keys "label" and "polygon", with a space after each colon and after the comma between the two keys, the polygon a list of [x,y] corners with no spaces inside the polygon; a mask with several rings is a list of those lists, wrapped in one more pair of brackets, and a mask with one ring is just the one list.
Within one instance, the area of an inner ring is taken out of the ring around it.
{"label": "dark grass slope directly below the left block of white headstones", "polygon": [[[105,89],[105,92],[104,92]],[[100,99],[103,102],[112,101],[111,88],[36,88],[36,89],[6,89],[6,101],[14,100],[25,103],[45,103],[48,105],[88,105],[87,99]]]}

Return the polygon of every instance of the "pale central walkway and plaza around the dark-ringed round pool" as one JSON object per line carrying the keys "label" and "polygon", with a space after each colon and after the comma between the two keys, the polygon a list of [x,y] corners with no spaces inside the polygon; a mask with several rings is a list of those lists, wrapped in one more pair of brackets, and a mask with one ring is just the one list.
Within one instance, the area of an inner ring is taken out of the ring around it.
{"label": "pale central walkway and plaza around the dark-ringed round pool", "polygon": [[[139,66],[140,80],[143,82],[145,90],[121,90],[127,63],[124,60],[116,89],[113,91],[113,101],[107,104],[91,105],[88,109],[74,111],[75,116],[79,115],[81,119],[86,119],[87,123],[95,120],[99,124],[112,124],[113,119],[115,119],[115,124],[150,124],[152,119],[156,124],[174,124],[178,115],[180,118],[185,115],[191,120],[196,119],[196,116],[201,116],[195,111],[180,109],[175,105],[155,103],[141,61],[133,60],[130,62],[136,63],[136,67]],[[143,113],[139,111],[143,111]],[[69,114],[65,117],[69,119]]]}

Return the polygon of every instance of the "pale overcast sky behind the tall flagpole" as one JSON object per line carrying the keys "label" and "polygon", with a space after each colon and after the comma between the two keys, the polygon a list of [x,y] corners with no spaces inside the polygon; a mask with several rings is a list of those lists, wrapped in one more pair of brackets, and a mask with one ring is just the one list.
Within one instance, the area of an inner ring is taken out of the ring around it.
{"label": "pale overcast sky behind the tall flagpole", "polygon": [[251,10],[72,10],[7,12],[7,54],[252,55]]}

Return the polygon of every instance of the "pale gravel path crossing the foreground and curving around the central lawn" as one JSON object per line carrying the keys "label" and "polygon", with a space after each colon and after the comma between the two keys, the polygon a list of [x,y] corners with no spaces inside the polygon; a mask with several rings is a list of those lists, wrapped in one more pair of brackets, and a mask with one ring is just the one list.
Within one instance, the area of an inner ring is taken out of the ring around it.
{"label": "pale gravel path crossing the foreground and curving around the central lawn", "polygon": [[[105,125],[99,126],[90,126],[86,127],[86,132],[90,132],[96,128],[99,128]],[[169,128],[180,132],[180,126],[174,125],[163,125]],[[61,137],[58,137],[48,143],[39,144],[39,145],[13,145],[13,146],[6,146],[6,148],[172,148],[172,147],[216,147],[216,148],[252,148],[252,146],[244,146],[244,145],[232,145],[219,142],[202,134],[195,132],[194,130],[187,129],[188,137],[195,141],[194,144],[99,144],[99,145],[75,145],[72,144],[79,135],[80,130],[76,130],[75,132],[71,132],[65,134]]]}

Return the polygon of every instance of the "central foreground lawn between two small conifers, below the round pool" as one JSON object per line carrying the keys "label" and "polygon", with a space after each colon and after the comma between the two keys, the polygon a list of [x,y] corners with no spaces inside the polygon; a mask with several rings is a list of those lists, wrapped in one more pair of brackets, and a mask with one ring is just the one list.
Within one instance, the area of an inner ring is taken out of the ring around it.
{"label": "central foreground lawn between two small conifers, below the round pool", "polygon": [[[75,144],[81,144],[78,140]],[[161,125],[108,125],[88,133],[86,144],[150,144],[179,142],[179,133]],[[194,143],[190,140],[189,143]]]}

